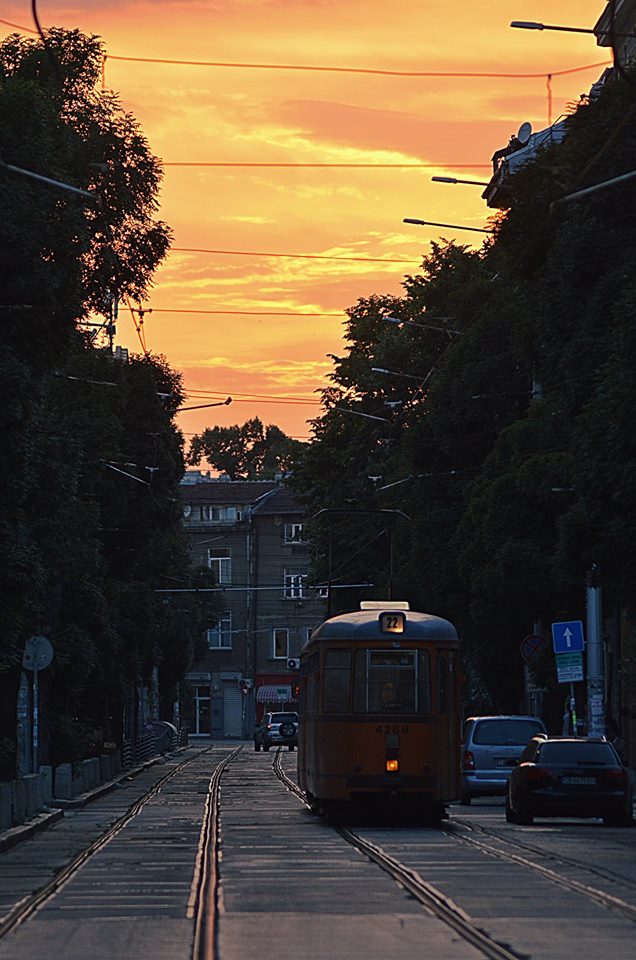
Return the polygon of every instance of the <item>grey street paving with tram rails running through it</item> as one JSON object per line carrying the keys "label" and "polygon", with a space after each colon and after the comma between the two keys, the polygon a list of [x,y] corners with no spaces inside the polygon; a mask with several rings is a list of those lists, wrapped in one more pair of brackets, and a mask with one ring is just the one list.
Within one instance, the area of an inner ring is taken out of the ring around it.
{"label": "grey street paving with tram rails running through it", "polygon": [[[180,769],[24,923],[0,960],[190,960],[188,915],[207,787],[236,746],[193,748]],[[481,950],[311,814],[250,744],[221,780],[215,960],[473,960]],[[183,756],[0,854],[0,917],[45,883]],[[295,752],[282,754],[293,777]],[[441,830],[351,825],[534,960],[633,960],[636,829],[507,824],[503,801],[451,808]]]}

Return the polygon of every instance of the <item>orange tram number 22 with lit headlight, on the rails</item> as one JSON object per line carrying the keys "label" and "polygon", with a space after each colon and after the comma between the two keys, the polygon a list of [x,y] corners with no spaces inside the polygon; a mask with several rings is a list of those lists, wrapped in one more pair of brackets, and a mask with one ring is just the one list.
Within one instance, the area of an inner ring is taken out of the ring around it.
{"label": "orange tram number 22 with lit headlight, on the rails", "polygon": [[399,601],[363,601],[314,630],[298,684],[298,775],[313,806],[446,816],[459,795],[458,647],[452,623]]}

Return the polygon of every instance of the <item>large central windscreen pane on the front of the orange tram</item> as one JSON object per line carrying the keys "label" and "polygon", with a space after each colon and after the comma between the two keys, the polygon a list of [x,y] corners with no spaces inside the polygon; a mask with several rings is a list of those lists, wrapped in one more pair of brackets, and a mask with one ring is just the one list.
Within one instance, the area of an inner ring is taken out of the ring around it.
{"label": "large central windscreen pane on the front of the orange tram", "polygon": [[418,709],[417,693],[417,660],[414,651],[356,651],[356,712],[414,713]]}

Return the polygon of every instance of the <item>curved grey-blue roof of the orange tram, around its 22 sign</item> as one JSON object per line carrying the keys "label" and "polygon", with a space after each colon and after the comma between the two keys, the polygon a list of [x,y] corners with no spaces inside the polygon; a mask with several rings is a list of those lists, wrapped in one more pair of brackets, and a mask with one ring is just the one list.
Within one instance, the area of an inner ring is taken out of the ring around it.
{"label": "curved grey-blue roof of the orange tram, around its 22 sign", "polygon": [[397,634],[384,633],[378,629],[380,614],[393,612],[390,602],[385,608],[355,610],[342,613],[321,623],[308,643],[316,640],[457,640],[457,630],[443,617],[432,613],[417,613],[404,610],[404,631]]}

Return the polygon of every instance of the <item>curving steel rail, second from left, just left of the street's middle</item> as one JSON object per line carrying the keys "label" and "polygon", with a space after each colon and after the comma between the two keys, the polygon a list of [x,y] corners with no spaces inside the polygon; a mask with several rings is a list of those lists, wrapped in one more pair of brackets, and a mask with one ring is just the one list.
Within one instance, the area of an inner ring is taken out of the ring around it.
{"label": "curving steel rail, second from left, just left of the street's middle", "polygon": [[218,929],[218,878],[221,777],[227,765],[241,752],[237,747],[217,764],[205,799],[199,846],[186,916],[194,919],[192,960],[214,960]]}

